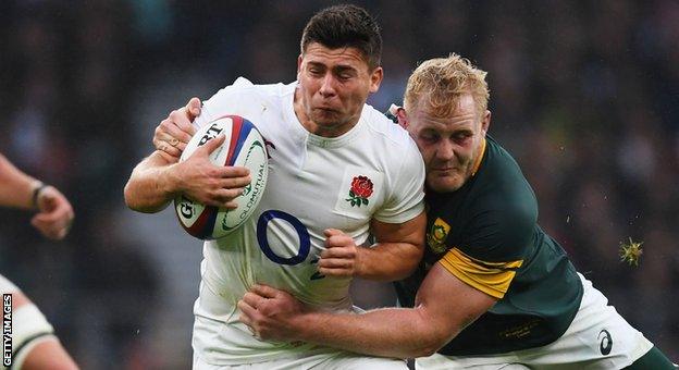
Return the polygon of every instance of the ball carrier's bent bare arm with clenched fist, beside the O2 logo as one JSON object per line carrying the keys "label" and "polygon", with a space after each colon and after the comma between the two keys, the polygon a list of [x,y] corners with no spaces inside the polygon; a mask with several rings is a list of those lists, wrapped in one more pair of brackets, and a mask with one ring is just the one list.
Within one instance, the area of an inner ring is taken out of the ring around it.
{"label": "ball carrier's bent bare arm with clenched fist, beside the O2 logo", "polygon": [[404,223],[373,220],[372,234],[378,243],[358,247],[354,238],[336,229],[325,231],[325,250],[319,273],[326,276],[359,276],[373,281],[395,281],[408,276],[423,254],[424,212]]}

